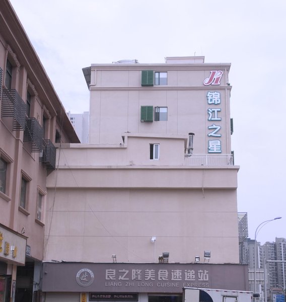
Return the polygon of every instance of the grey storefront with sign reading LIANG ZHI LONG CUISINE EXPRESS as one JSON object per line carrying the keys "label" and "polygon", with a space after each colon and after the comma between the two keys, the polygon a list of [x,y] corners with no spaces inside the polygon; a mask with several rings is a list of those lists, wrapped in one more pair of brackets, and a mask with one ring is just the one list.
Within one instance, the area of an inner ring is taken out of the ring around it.
{"label": "grey storefront with sign reading LIANG ZHI LONG CUISINE EXPRESS", "polygon": [[239,264],[43,264],[46,302],[181,302],[183,287],[249,290],[248,267]]}

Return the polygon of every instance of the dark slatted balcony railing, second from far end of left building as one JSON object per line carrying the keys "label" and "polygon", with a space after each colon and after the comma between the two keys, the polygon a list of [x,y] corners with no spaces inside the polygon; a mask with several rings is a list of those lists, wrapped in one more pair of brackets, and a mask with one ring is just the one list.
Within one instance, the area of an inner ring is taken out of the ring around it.
{"label": "dark slatted balcony railing, second from far end of left building", "polygon": [[34,117],[26,118],[24,141],[32,143],[32,152],[41,152],[43,149],[44,131]]}

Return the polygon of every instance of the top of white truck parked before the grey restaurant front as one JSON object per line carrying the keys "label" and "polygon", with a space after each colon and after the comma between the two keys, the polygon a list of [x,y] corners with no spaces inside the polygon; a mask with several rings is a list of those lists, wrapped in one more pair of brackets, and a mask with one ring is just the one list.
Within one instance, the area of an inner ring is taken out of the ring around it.
{"label": "top of white truck parked before the grey restaurant front", "polygon": [[252,302],[253,292],[243,290],[183,288],[183,302]]}

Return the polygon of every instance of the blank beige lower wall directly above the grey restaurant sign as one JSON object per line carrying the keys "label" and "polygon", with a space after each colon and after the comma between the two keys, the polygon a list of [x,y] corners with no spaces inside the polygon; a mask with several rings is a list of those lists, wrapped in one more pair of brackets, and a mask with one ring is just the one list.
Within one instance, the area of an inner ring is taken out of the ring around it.
{"label": "blank beige lower wall directly above the grey restaurant sign", "polygon": [[170,261],[188,263],[210,250],[211,263],[238,263],[238,167],[184,165],[179,136],[158,138],[167,153],[176,150],[169,162],[139,161],[149,139],[61,148],[47,178],[44,260],[111,262],[116,254],[119,262],[158,262],[168,251]]}

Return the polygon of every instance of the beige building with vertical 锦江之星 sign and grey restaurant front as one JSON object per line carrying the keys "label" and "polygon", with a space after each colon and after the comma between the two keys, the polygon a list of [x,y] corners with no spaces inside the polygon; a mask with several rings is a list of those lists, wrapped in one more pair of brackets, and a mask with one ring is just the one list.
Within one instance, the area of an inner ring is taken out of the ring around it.
{"label": "beige building with vertical \u9526\u6c5f\u4e4b\u661f sign and grey restaurant front", "polygon": [[167,57],[83,68],[89,144],[47,176],[46,301],[181,301],[248,290],[239,265],[230,63]]}

